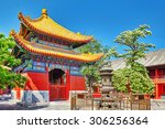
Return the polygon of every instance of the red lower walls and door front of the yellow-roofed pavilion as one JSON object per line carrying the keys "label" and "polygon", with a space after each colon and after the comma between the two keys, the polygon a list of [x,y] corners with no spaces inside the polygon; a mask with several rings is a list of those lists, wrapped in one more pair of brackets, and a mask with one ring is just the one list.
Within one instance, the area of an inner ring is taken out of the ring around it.
{"label": "red lower walls and door front of the yellow-roofed pavilion", "polygon": [[[48,83],[48,73],[28,72],[23,74],[28,82],[26,90],[51,90],[50,100],[68,99],[69,90],[85,90],[85,78],[82,76],[73,76],[66,71],[66,86],[54,87]],[[15,88],[16,97],[20,98],[20,88]],[[61,92],[59,92],[61,90]],[[61,94],[61,95],[59,95]]]}

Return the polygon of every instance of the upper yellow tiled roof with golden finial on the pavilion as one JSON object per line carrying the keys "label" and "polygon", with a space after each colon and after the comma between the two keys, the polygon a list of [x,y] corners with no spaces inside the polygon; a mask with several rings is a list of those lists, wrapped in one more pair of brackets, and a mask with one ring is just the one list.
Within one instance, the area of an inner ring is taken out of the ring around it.
{"label": "upper yellow tiled roof with golden finial on the pavilion", "polygon": [[34,31],[69,42],[88,43],[92,40],[92,36],[74,33],[59,25],[47,15],[46,9],[42,10],[42,15],[38,19],[32,20],[24,17],[21,12],[19,13],[19,19]]}

